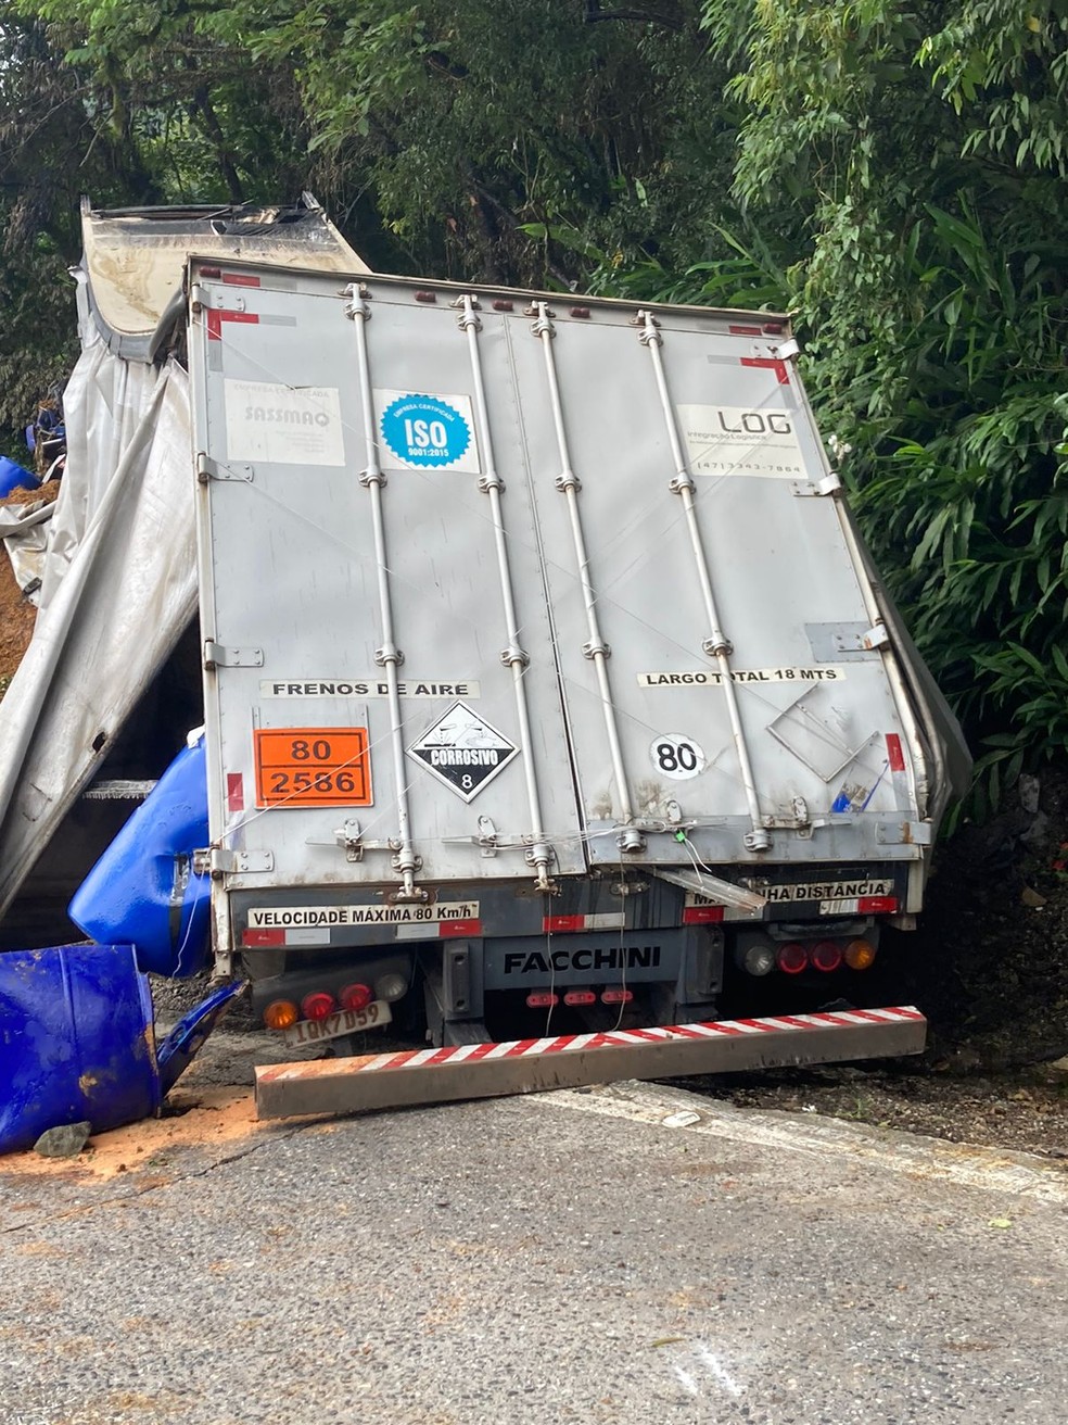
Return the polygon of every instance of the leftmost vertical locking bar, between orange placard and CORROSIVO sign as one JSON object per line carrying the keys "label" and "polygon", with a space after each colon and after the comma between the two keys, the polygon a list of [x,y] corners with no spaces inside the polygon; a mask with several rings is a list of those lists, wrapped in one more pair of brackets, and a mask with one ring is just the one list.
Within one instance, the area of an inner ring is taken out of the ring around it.
{"label": "leftmost vertical locking bar, between orange placard and CORROSIVO sign", "polygon": [[386,690],[389,698],[390,744],[393,750],[393,781],[397,792],[397,854],[394,866],[400,872],[402,886],[397,898],[402,901],[424,901],[426,891],[416,886],[416,871],[419,861],[412,845],[412,819],[407,805],[407,770],[404,765],[404,727],[400,715],[400,687],[397,667],[403,661],[403,654],[393,638],[393,600],[389,587],[389,561],[386,559],[386,520],[382,509],[382,489],[386,476],[379,463],[379,442],[375,435],[375,392],[370,380],[370,359],[367,356],[367,322],[370,309],[357,286],[349,288],[349,305],[346,315],[356,325],[356,352],[359,363],[360,398],[363,402],[363,440],[367,447],[367,466],[360,475],[363,484],[370,494],[372,530],[375,533],[375,560],[377,563],[379,579],[379,610],[382,618],[382,647],[375,654],[375,661],[386,670]]}

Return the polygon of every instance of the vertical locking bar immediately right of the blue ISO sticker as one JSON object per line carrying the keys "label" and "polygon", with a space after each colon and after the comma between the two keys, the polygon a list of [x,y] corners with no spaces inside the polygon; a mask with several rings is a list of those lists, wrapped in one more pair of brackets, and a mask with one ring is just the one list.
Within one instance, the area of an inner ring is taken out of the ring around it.
{"label": "vertical locking bar immediately right of the blue ISO sticker", "polygon": [[493,433],[490,432],[490,413],[486,405],[486,382],[483,379],[481,352],[478,351],[478,332],[481,322],[476,312],[476,299],[470,294],[459,298],[459,325],[467,336],[467,353],[471,361],[471,382],[474,388],[476,419],[478,422],[478,442],[486,462],[486,473],[478,480],[478,489],[490,499],[490,519],[493,522],[493,540],[497,549],[497,574],[501,586],[501,603],[504,606],[504,634],[508,640],[501,651],[501,663],[511,670],[511,681],[515,693],[515,717],[520,728],[520,742],[523,744],[523,770],[527,777],[527,808],[530,815],[531,845],[527,851],[527,861],[537,872],[540,891],[551,889],[550,862],[553,848],[545,841],[541,821],[541,798],[538,795],[537,770],[534,767],[534,747],[530,734],[530,708],[527,705],[525,670],[530,656],[520,644],[520,626],[515,617],[515,598],[513,594],[511,566],[508,563],[508,542],[504,533],[504,517],[501,512],[501,490],[504,484],[497,473],[497,460],[493,452]]}

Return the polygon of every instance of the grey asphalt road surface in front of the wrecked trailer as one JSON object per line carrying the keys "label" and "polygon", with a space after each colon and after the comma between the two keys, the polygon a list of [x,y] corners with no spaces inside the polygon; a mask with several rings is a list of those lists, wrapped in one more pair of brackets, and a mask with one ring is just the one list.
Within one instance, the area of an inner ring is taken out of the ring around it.
{"label": "grey asphalt road surface in front of the wrecked trailer", "polygon": [[4,1160],[3,1425],[1065,1418],[1057,1166],[658,1086],[205,1092],[185,1140]]}

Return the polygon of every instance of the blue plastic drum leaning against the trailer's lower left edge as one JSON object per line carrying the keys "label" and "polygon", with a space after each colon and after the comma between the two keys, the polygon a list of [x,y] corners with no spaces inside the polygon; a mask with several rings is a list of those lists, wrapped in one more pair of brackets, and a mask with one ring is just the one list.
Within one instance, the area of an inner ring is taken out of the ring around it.
{"label": "blue plastic drum leaning against the trailer's lower left edge", "polygon": [[70,903],[91,939],[134,946],[142,970],[182,979],[208,956],[211,878],[194,875],[208,844],[204,740],[182,748],[90,871]]}

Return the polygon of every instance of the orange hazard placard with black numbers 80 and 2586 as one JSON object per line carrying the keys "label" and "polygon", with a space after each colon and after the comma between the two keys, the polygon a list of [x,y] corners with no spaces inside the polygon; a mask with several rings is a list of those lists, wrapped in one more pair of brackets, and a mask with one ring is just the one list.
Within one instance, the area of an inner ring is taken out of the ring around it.
{"label": "orange hazard placard with black numbers 80 and 2586", "polygon": [[258,807],[370,807],[366,727],[259,727]]}

